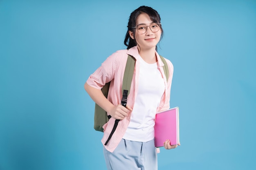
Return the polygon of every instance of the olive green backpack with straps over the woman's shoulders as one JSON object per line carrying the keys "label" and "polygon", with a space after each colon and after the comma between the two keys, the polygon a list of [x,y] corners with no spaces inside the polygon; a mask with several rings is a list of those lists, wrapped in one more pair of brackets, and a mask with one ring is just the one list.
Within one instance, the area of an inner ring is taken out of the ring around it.
{"label": "olive green backpack with straps over the woman's shoulders", "polygon": [[[164,60],[164,57],[162,57],[161,55],[159,55],[159,56],[160,56],[162,62],[164,63],[164,67],[163,67],[164,68],[164,74],[165,74],[166,79],[168,81],[169,70],[168,70],[166,60]],[[128,59],[127,59],[127,62],[126,62],[126,68],[125,68],[125,71],[124,71],[123,85],[122,85],[123,98],[121,100],[121,104],[123,106],[126,106],[127,96],[129,94],[130,86],[131,86],[131,82],[132,82],[134,67],[135,67],[135,58],[132,57],[131,55],[128,55]],[[106,98],[108,98],[109,86],[110,86],[110,82],[106,83],[103,86],[103,88],[101,89],[103,95]],[[111,118],[111,116],[108,115],[107,112],[105,110],[103,110],[98,104],[95,103],[94,129],[97,130],[97,131],[103,132],[102,126],[104,124],[106,124],[110,118]],[[110,137],[107,140],[106,144],[108,143],[108,141],[112,137],[113,133],[115,132],[115,129],[117,128],[118,122],[119,122],[119,120],[115,121],[114,128],[113,128],[112,132],[110,133]]]}

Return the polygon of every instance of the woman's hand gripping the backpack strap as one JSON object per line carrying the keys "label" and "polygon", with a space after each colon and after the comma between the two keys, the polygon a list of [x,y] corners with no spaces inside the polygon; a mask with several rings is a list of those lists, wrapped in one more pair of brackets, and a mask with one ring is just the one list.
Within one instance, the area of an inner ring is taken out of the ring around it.
{"label": "woman's hand gripping the backpack strap", "polygon": [[109,114],[114,119],[123,120],[127,116],[129,110],[132,111],[132,108],[130,108],[129,106],[124,107],[119,104],[117,106],[113,106]]}

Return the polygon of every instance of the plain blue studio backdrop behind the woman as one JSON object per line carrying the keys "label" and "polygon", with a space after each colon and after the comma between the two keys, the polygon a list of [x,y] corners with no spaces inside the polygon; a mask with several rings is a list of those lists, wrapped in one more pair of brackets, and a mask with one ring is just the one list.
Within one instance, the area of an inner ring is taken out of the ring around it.
{"label": "plain blue studio backdrop behind the woman", "polygon": [[140,5],[161,16],[180,107],[159,170],[256,169],[255,0],[0,0],[0,170],[106,169],[83,85]]}

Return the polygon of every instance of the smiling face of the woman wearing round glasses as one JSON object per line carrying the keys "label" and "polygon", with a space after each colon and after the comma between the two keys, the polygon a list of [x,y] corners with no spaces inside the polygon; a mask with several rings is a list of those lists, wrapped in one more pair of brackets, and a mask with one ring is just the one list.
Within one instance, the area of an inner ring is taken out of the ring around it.
{"label": "smiling face of the woman wearing round glasses", "polygon": [[147,27],[147,31],[146,33],[139,33],[138,30],[135,30],[135,35],[132,33],[132,31],[129,31],[130,33],[130,37],[132,39],[136,39],[137,44],[139,45],[141,50],[147,50],[147,49],[155,49],[155,46],[157,45],[157,43],[159,42],[160,38],[161,38],[161,29],[159,29],[159,31],[157,32],[153,32],[150,29],[150,24],[152,24],[152,20],[150,20],[148,14],[146,13],[141,13],[137,20],[136,20],[136,26],[140,25],[140,24],[145,24]]}

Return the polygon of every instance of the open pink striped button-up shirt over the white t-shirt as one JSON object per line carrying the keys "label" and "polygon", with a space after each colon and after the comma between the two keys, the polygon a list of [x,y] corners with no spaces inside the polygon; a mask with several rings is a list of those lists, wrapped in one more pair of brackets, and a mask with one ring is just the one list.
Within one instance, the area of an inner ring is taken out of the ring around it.
{"label": "open pink striped button-up shirt over the white t-shirt", "polygon": [[[127,98],[127,105],[133,108],[135,103],[135,98],[138,91],[138,80],[139,80],[139,52],[137,49],[137,46],[132,47],[129,50],[119,50],[112,55],[110,55],[102,64],[101,66],[92,74],[87,80],[87,84],[97,88],[101,89],[103,85],[105,85],[107,82],[110,82],[110,88],[108,92],[108,100],[112,102],[114,105],[121,104],[121,98],[122,98],[122,83],[123,83],[123,76],[124,76],[124,70],[126,67],[126,61],[128,58],[128,54],[135,57],[135,69],[134,74],[132,77],[132,84],[130,88],[130,94]],[[173,78],[173,64],[170,62],[170,60],[166,60],[168,68],[169,68],[169,77],[168,82],[166,81],[166,76],[164,75],[164,63],[160,59],[157,52],[155,52],[157,56],[157,65],[158,69],[162,74],[162,77],[164,78],[164,84],[165,84],[165,91],[162,96],[161,102],[159,104],[159,107],[157,108],[157,112],[161,110],[166,110],[170,108],[170,93],[171,93],[171,82]],[[154,81],[154,80],[152,80]],[[112,135],[110,141],[105,146],[105,148],[113,152],[119,142],[121,141],[122,137],[124,136],[126,129],[130,123],[130,116],[132,112],[128,111],[128,116],[125,117],[123,120],[119,121],[117,129],[115,130],[114,134]],[[111,118],[104,126],[104,135],[101,139],[101,142],[105,144],[107,141],[110,132],[112,131],[112,128],[115,124],[115,119]]]}

